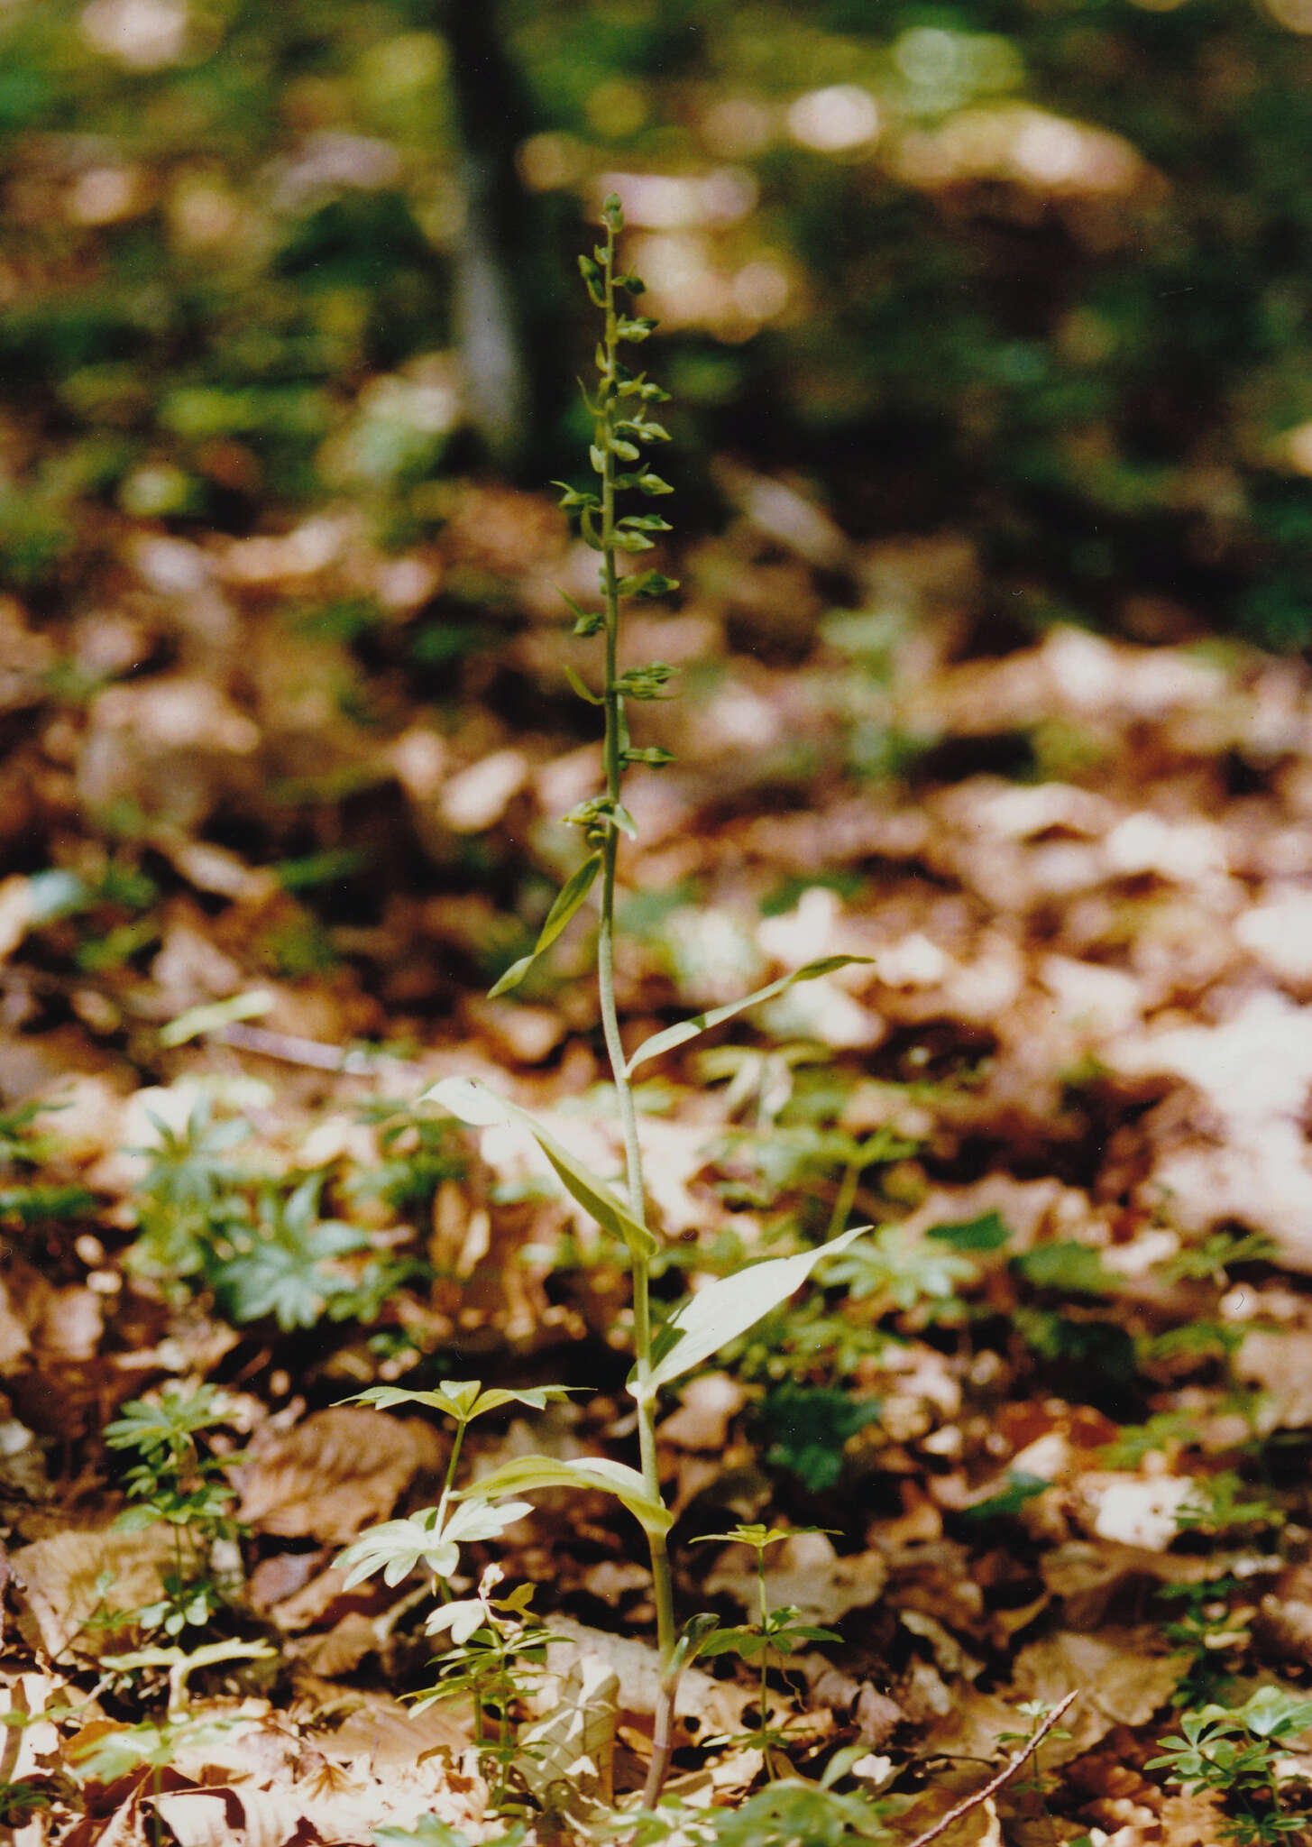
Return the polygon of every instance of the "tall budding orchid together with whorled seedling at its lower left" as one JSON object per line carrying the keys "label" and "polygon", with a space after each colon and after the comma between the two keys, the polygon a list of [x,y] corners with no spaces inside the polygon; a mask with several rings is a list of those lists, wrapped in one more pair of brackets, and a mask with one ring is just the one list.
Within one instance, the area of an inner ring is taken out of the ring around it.
{"label": "tall budding orchid together with whorled seedling at its lower left", "polygon": [[[601,561],[599,608],[588,610],[573,598],[565,600],[575,615],[575,634],[602,639],[601,687],[589,687],[573,667],[567,669],[567,674],[578,698],[597,707],[602,718],[604,787],[565,816],[582,833],[584,857],[547,912],[532,951],[501,975],[492,994],[501,996],[516,988],[599,888],[597,992],[625,1151],[623,1193],[584,1165],[534,1116],[482,1082],[449,1077],[425,1092],[421,1101],[442,1105],[469,1129],[514,1125],[527,1132],[541,1149],[562,1188],[602,1232],[626,1250],[634,1298],[634,1369],[628,1378],[628,1393],[636,1407],[638,1467],[606,1457],[560,1461],[547,1455],[521,1455],[468,1487],[455,1489],[456,1448],[447,1485],[436,1507],[423,1509],[410,1520],[388,1522],[384,1527],[364,1533],[346,1557],[351,1561],[349,1581],[358,1581],[375,1570],[383,1570],[390,1581],[399,1581],[418,1563],[425,1563],[434,1579],[443,1579],[455,1570],[462,1540],[497,1537],[525,1511],[527,1503],[512,1496],[558,1487],[601,1489],[613,1494],[639,1522],[652,1570],[662,1701],[656,1712],[654,1756],[645,1792],[645,1801],[650,1806],[660,1795],[669,1764],[678,1675],[693,1659],[699,1636],[706,1633],[706,1625],[695,1618],[693,1625],[687,1625],[680,1635],[674,1620],[667,1548],[673,1513],[663,1498],[656,1455],[658,1398],[676,1380],[702,1365],[721,1346],[737,1339],[761,1315],[784,1302],[800,1287],[820,1258],[844,1249],[869,1226],[844,1230],[820,1249],[771,1258],[734,1276],[710,1282],[689,1295],[658,1326],[650,1300],[650,1276],[660,1245],[649,1223],[632,1079],[634,1071],[649,1060],[684,1045],[745,1008],[771,999],[793,983],[817,979],[861,959],[835,955],[808,962],[741,1001],[682,1020],[645,1040],[634,1053],[625,1053],[615,1005],[615,892],[621,840],[636,839],[636,827],[625,807],[623,778],[632,765],[660,767],[671,761],[669,752],[660,746],[634,744],[628,706],[630,702],[667,698],[673,669],[663,661],[621,669],[621,619],[626,604],[665,597],[678,584],[654,569],[621,567],[621,561],[649,552],[656,543],[654,534],[671,530],[658,513],[630,510],[671,493],[669,482],[654,473],[645,454],[650,447],[669,440],[669,432],[652,416],[654,406],[663,403],[667,393],[645,371],[636,371],[630,364],[632,349],[650,336],[656,321],[636,312],[643,283],[619,266],[617,247],[625,214],[615,194],[604,201],[602,227],[604,240],[591,255],[578,259],[588,296],[602,316],[595,356],[597,380],[591,393],[584,392],[593,417],[589,460],[595,480],[584,489],[564,482],[556,482],[556,486],[562,488],[562,506],[577,515],[584,541],[599,554]],[[381,1407],[431,1400],[434,1409],[458,1418],[462,1433],[471,1417],[492,1407],[492,1398],[514,1396],[519,1402],[541,1398],[545,1402],[547,1396],[556,1394],[551,1387],[538,1389],[536,1394],[482,1393],[475,1394],[469,1406],[458,1409],[453,1393],[456,1387],[451,1385],[440,1393],[377,1387],[362,1396]],[[386,1540],[384,1535],[388,1535]],[[464,1616],[453,1616],[449,1622],[464,1625]]]}

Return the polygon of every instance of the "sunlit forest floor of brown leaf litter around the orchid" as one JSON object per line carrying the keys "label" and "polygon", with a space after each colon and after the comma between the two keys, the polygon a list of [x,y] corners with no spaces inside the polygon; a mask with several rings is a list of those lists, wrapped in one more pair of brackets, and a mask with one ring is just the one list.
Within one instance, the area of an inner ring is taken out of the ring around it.
{"label": "sunlit forest floor of brown leaf litter around the orchid", "polygon": [[[680,1612],[754,1620],[750,1550],[700,1535],[808,1527],[769,1601],[837,1636],[767,1657],[769,1714],[759,1653],[689,1670],[671,1790],[732,1812],[852,1745],[837,1788],[909,1843],[1075,1692],[946,1847],[1312,1838],[1312,1744],[1257,1718],[1312,1718],[1308,672],[1026,634],[957,539],[852,547],[787,484],[726,491],[626,635],[680,669],[636,718],[674,763],[628,781],[626,1042],[867,960],[643,1069],[658,1295],[876,1230],[665,1406]],[[477,1075],[619,1169],[589,925],[486,996],[597,787],[558,597],[593,560],[536,497],[445,512],[403,554],[357,510],[115,528],[59,611],[0,602],[20,1847],[501,1838],[469,1701],[401,1697],[440,1646],[419,1577],[338,1563],[432,1505],[449,1422],[344,1400],[562,1383],[464,1467],[634,1461],[615,1249],[527,1138],[416,1105]],[[512,1716],[569,1721],[506,1812],[569,1838],[650,1755],[643,1537],[553,1491],[456,1590],[493,1561],[554,1636]],[[1258,1781],[1151,1768],[1209,1703],[1253,1718]],[[856,1838],[835,1814],[745,1840]]]}

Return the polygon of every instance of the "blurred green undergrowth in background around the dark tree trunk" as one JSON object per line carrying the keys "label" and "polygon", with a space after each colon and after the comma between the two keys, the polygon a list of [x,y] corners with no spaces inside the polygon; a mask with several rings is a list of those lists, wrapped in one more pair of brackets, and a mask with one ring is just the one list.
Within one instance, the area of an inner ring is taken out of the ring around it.
{"label": "blurred green undergrowth in background around the dark tree trunk", "polygon": [[[421,532],[497,377],[456,310],[479,236],[527,214],[512,283],[554,312],[617,185],[689,467],[793,469],[859,536],[966,532],[1033,621],[1308,641],[1308,0],[479,17],[504,68],[442,0],[7,0],[15,587],[96,508],[242,530],[346,493]],[[545,325],[517,323],[534,467],[586,360]]]}

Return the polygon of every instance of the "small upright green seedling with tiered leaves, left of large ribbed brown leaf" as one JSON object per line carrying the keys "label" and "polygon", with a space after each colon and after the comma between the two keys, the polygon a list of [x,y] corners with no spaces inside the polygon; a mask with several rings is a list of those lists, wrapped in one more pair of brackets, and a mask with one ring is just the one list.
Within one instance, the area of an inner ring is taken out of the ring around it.
{"label": "small upright green seedling with tiered leaves, left of large ribbed brown leaf", "polygon": [[111,1450],[139,1455],[124,1478],[131,1505],[116,1526],[139,1533],[164,1524],[174,1535],[174,1570],[164,1575],[163,1598],[131,1612],[140,1629],[181,1635],[187,1627],[205,1627],[227,1601],[213,1574],[213,1551],[220,1540],[237,1539],[237,1492],[225,1465],[196,1441],[224,1422],[211,1385],[194,1393],[166,1387],[157,1400],[133,1398],[105,1430]]}

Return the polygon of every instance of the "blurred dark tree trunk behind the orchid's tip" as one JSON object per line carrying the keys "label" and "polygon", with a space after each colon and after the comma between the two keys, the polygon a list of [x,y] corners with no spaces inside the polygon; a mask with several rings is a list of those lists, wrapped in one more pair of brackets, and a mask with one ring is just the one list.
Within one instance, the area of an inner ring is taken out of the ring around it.
{"label": "blurred dark tree trunk behind the orchid's tip", "polygon": [[451,48],[464,194],[453,332],[488,460],[525,475],[549,445],[562,368],[551,214],[525,192],[516,166],[534,111],[495,0],[442,0],[440,22]]}

